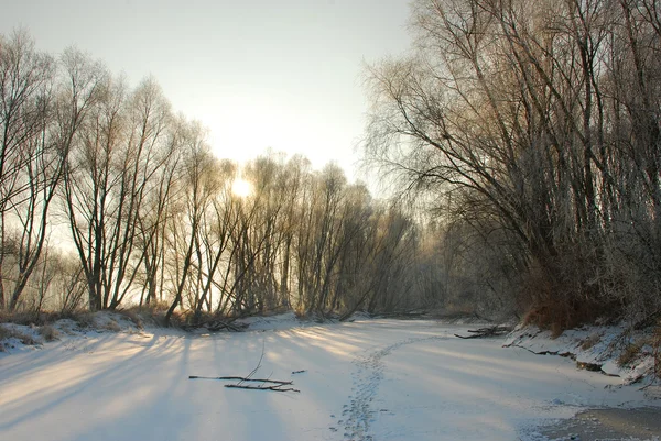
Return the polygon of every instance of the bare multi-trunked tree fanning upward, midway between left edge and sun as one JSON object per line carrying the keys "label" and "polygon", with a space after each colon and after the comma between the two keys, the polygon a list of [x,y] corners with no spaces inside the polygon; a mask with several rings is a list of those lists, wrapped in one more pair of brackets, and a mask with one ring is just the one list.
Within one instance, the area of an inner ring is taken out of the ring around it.
{"label": "bare multi-trunked tree fanning upward, midway between left edge and sun", "polygon": [[[89,307],[115,309],[145,257],[136,253],[142,201],[172,150],[170,104],[153,79],[127,92],[123,80],[84,59],[75,73],[95,78],[99,99],[76,139],[65,174],[65,206],[88,280]],[[137,254],[137,255],[136,255]]]}

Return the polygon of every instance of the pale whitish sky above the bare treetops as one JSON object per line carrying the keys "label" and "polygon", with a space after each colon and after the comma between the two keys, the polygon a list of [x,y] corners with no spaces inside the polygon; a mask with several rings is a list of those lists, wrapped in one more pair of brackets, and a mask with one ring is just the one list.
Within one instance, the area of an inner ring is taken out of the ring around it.
{"label": "pale whitish sky above the bare treetops", "polygon": [[354,176],[364,60],[404,52],[409,0],[0,0],[0,33],[75,45],[132,86],[153,75],[220,157],[271,147]]}

